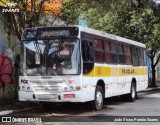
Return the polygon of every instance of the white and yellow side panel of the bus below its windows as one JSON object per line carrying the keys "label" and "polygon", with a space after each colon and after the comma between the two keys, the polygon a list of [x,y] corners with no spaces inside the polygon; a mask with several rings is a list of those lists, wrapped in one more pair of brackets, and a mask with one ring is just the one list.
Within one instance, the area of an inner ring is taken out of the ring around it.
{"label": "white and yellow side panel of the bus below its windows", "polygon": [[[97,71],[98,69],[98,71]],[[128,74],[122,74],[122,70],[128,70]],[[134,71],[134,72],[133,72]],[[98,74],[99,72],[99,74]],[[145,90],[148,86],[147,67],[132,67],[122,65],[103,65],[95,64],[93,71],[83,76],[83,83],[88,88],[89,100],[94,99],[94,92],[99,80],[104,81],[105,97],[112,97],[130,93],[132,80],[136,80],[136,89]],[[90,89],[89,89],[90,88]],[[90,90],[90,91],[89,91]],[[90,95],[90,96],[89,96]]]}

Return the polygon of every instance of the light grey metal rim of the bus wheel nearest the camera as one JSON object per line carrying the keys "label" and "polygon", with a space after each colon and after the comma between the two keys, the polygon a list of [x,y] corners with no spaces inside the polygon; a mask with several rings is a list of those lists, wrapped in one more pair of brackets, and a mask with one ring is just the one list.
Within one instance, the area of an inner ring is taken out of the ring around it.
{"label": "light grey metal rim of the bus wheel nearest the camera", "polygon": [[97,107],[97,109],[101,109],[102,104],[103,104],[103,95],[102,95],[102,92],[100,90],[98,90],[96,93],[96,107]]}

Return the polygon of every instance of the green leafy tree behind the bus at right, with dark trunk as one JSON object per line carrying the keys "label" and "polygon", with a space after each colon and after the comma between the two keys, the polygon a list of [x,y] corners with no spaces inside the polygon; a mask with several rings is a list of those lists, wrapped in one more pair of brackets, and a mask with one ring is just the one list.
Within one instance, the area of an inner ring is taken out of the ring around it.
{"label": "green leafy tree behind the bus at right, with dark trunk", "polygon": [[113,1],[116,10],[91,8],[85,18],[92,28],[145,43],[151,58],[152,86],[156,86],[155,67],[160,61],[157,53],[160,51],[160,5],[152,0],[122,0],[118,5]]}

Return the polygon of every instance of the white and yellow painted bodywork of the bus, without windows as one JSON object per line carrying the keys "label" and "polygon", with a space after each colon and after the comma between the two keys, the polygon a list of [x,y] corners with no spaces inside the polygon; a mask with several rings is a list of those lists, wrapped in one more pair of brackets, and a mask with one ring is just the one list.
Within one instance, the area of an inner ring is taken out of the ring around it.
{"label": "white and yellow painted bodywork of the bus, without windows", "polygon": [[[67,26],[66,26],[67,27]],[[65,27],[65,29],[66,29]],[[119,63],[106,63],[93,61],[93,69],[85,74],[83,72],[82,40],[94,42],[96,37],[128,44],[130,46],[146,48],[145,44],[107,34],[98,30],[80,27],[76,38],[80,40],[80,75],[49,75],[49,76],[24,76],[19,77],[19,100],[20,101],[48,101],[48,102],[87,102],[95,99],[95,90],[99,81],[104,82],[105,97],[119,96],[130,93],[131,83],[136,80],[136,90],[145,90],[148,86],[147,66],[133,66]],[[38,29],[38,28],[37,28]],[[43,28],[42,28],[43,29]],[[61,29],[63,29],[61,27]],[[82,38],[81,32],[91,34]],[[63,32],[62,32],[63,33]],[[73,33],[73,32],[71,32]],[[72,35],[72,34],[70,34]],[[66,37],[66,36],[65,36]],[[33,39],[33,38],[32,38]],[[52,38],[50,38],[52,39]],[[55,39],[55,37],[54,37]],[[57,39],[61,39],[58,38]],[[71,39],[71,38],[66,38]],[[75,39],[75,36],[74,36]],[[28,46],[27,46],[28,47]],[[32,49],[31,49],[32,50]],[[95,50],[94,50],[95,52]],[[106,52],[106,51],[104,51]],[[22,52],[27,54],[26,52]],[[94,58],[95,58],[95,54]],[[117,53],[118,55],[118,53]],[[24,63],[26,63],[24,60]],[[133,59],[132,59],[133,61]],[[24,64],[22,65],[24,68]],[[36,88],[37,87],[37,88]]]}

